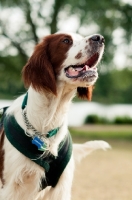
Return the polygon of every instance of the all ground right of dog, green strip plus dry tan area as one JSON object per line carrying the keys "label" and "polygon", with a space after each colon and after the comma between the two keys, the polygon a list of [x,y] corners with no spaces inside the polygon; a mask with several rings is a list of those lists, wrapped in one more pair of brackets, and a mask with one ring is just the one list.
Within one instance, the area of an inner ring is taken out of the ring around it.
{"label": "all ground right of dog, green strip plus dry tan area", "polygon": [[74,142],[103,139],[112,146],[75,166],[72,200],[131,200],[132,126],[87,125],[70,132]]}

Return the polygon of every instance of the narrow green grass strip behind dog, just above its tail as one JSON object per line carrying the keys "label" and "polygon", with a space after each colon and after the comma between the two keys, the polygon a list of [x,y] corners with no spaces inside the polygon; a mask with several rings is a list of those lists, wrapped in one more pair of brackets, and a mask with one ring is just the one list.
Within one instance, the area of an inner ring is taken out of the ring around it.
{"label": "narrow green grass strip behind dog, just above its tail", "polygon": [[73,137],[107,140],[132,140],[131,125],[85,125],[69,128]]}

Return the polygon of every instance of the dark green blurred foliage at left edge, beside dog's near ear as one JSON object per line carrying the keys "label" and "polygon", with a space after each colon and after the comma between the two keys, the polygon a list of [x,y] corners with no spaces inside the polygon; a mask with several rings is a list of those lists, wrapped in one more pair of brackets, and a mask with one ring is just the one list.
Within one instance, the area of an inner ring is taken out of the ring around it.
{"label": "dark green blurred foliage at left edge, beside dog's near ear", "polygon": [[[13,99],[25,91],[20,78],[23,60],[18,56],[0,57],[0,97]],[[24,64],[24,63],[23,63]],[[13,73],[12,73],[13,70]],[[6,71],[6,74],[5,74]]]}

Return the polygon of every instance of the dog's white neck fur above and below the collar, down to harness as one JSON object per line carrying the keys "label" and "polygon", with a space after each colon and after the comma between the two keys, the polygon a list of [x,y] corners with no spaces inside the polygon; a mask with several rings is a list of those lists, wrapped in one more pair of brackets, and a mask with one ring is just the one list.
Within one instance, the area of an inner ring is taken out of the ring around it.
{"label": "dog's white neck fur above and below the collar, down to harness", "polygon": [[[27,118],[34,128],[45,137],[49,131],[60,127],[55,137],[49,138],[49,151],[55,156],[60,142],[68,133],[67,115],[75,92],[75,86],[65,83],[57,85],[57,96],[46,91],[37,92],[32,87],[28,90]],[[7,114],[13,114],[18,124],[26,130],[21,109],[23,99],[23,96],[16,99]],[[32,136],[32,131],[28,130],[28,133]]]}

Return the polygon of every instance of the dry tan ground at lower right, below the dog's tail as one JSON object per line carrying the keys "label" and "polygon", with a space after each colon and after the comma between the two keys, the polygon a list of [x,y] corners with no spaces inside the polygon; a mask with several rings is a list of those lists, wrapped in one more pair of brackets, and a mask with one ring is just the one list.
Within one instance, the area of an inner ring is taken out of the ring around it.
{"label": "dry tan ground at lower right, below the dog's tail", "polygon": [[83,160],[76,167],[72,200],[132,200],[132,144]]}

